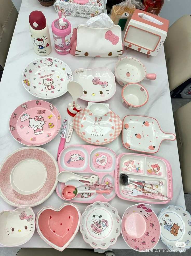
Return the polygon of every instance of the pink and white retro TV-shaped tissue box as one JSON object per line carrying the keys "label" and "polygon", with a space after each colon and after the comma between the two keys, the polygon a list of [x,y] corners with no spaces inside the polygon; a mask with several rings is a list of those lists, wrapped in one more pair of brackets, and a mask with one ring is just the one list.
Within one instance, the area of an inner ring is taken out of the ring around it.
{"label": "pink and white retro TV-shaped tissue box", "polygon": [[169,21],[136,9],[129,21],[124,46],[156,56],[160,51],[168,32]]}

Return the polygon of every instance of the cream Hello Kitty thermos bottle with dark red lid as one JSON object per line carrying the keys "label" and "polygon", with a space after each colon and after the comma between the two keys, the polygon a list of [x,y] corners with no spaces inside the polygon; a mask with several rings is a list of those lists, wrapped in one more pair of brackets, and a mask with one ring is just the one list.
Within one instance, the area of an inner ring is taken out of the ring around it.
{"label": "cream Hello Kitty thermos bottle with dark red lid", "polygon": [[51,41],[46,18],[42,11],[32,11],[29,15],[31,39],[34,50],[38,55],[45,56],[51,53]]}

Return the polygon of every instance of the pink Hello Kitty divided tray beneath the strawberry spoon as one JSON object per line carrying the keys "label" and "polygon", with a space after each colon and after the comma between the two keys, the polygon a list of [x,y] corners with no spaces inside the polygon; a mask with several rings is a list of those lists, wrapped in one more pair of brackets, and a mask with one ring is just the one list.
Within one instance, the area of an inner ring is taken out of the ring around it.
{"label": "pink Hello Kitty divided tray beneath the strawberry spoon", "polygon": [[[70,200],[76,203],[92,204],[96,201],[108,202],[115,197],[115,190],[110,186],[114,186],[114,170],[115,170],[116,155],[113,150],[91,146],[91,145],[72,145],[64,148],[58,158],[59,173],[69,171],[76,173],[80,176],[90,177],[97,175],[100,184],[106,186],[99,186],[99,184],[92,184],[90,186],[81,186],[78,190],[87,189],[87,193],[78,194],[75,199]],[[86,184],[86,181],[81,181]],[[62,197],[62,189],[65,183],[58,182],[56,192],[60,198]],[[110,194],[92,193],[91,190],[95,189],[109,189]]]}

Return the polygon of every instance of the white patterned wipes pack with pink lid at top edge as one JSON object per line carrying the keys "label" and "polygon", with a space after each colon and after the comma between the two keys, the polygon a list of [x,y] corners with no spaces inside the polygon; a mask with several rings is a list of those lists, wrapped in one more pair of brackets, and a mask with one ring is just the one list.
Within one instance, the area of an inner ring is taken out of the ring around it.
{"label": "white patterned wipes pack with pink lid at top edge", "polygon": [[107,13],[107,0],[56,0],[54,8],[65,15],[91,18]]}

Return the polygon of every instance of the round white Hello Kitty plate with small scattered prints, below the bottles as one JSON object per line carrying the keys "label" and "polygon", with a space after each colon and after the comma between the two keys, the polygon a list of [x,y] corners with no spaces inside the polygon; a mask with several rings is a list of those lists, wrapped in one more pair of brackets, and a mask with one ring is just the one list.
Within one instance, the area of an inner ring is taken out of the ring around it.
{"label": "round white Hello Kitty plate with small scattered prints, below the bottles", "polygon": [[32,95],[41,99],[53,99],[67,92],[72,81],[72,71],[62,60],[42,57],[30,62],[23,70],[22,83]]}

